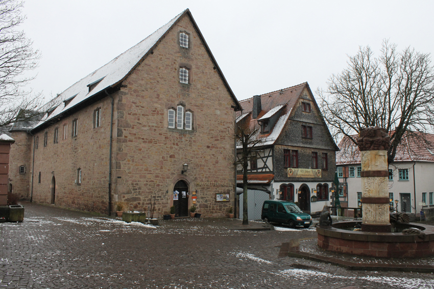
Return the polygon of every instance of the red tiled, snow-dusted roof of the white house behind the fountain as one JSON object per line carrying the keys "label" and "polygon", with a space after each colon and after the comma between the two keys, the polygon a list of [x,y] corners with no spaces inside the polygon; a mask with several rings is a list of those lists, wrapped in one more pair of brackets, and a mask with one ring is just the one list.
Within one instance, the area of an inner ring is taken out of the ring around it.
{"label": "red tiled, snow-dusted roof of the white house behind the fountain", "polygon": [[[344,137],[338,146],[336,165],[360,164],[360,151],[349,137]],[[394,162],[434,162],[434,135],[405,133],[396,148]]]}

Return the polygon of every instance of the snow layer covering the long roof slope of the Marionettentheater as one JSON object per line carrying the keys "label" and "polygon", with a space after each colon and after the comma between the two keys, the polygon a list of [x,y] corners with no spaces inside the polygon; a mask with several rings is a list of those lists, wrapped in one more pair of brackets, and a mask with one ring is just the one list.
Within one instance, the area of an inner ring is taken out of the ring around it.
{"label": "snow layer covering the long roof slope of the Marionettentheater", "polygon": [[[149,50],[157,43],[157,41],[172,27],[172,25],[185,13],[183,11],[167,24],[163,25],[153,34],[134,45],[123,54],[104,65],[103,67],[88,74],[80,81],[63,91],[59,97],[61,100],[68,100],[75,96],[65,106],[57,106],[50,115],[45,114],[44,118],[36,125],[39,126],[47,120],[55,118],[60,113],[63,113],[91,96],[101,92],[102,90],[113,86],[122,81],[136,64],[149,52]],[[99,82],[100,81],[100,82]],[[99,82],[99,83],[98,83]],[[89,86],[98,83],[89,91]],[[60,102],[62,102],[60,101]],[[35,127],[36,127],[35,126]]]}

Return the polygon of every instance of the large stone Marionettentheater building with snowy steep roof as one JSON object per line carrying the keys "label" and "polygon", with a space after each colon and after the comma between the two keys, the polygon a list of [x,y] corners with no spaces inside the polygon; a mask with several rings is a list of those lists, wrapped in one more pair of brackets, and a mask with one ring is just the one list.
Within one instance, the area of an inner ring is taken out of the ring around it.
{"label": "large stone Marionettentheater building with snowy steep roof", "polygon": [[20,134],[11,161],[26,156],[27,177],[13,180],[16,193],[101,213],[152,202],[156,217],[233,205],[240,106],[188,9],[59,99]]}

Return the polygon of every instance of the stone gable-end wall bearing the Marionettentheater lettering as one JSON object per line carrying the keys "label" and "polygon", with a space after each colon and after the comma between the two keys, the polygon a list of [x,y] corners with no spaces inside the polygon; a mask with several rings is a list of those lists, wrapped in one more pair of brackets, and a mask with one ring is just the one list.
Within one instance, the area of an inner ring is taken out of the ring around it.
{"label": "stone gable-end wall bearing the Marionettentheater lettering", "polygon": [[[188,49],[179,46],[179,31],[189,33]],[[234,183],[233,101],[187,16],[153,52],[120,92],[114,199],[129,209],[146,209],[156,196],[158,217],[168,213],[175,183],[182,179],[190,192],[198,190],[199,213],[223,216],[233,203],[216,202],[215,194],[229,193],[232,200],[233,186],[196,183]],[[188,85],[179,83],[182,66],[190,68]],[[191,131],[167,128],[167,110],[180,103],[193,113]],[[188,171],[181,174],[184,163]]]}

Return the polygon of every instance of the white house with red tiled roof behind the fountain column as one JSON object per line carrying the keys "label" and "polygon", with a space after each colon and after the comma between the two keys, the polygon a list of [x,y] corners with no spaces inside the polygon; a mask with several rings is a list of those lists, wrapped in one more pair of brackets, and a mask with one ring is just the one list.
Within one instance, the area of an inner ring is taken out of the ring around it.
{"label": "white house with red tiled roof behind the fountain column", "polygon": [[[389,164],[390,206],[399,212],[418,215],[422,209],[434,209],[434,135],[405,134]],[[361,199],[360,151],[349,137],[339,143],[336,153],[340,200],[343,207],[359,208]],[[396,202],[397,203],[396,203]],[[353,211],[353,209],[349,209]],[[352,216],[352,213],[348,213]]]}

